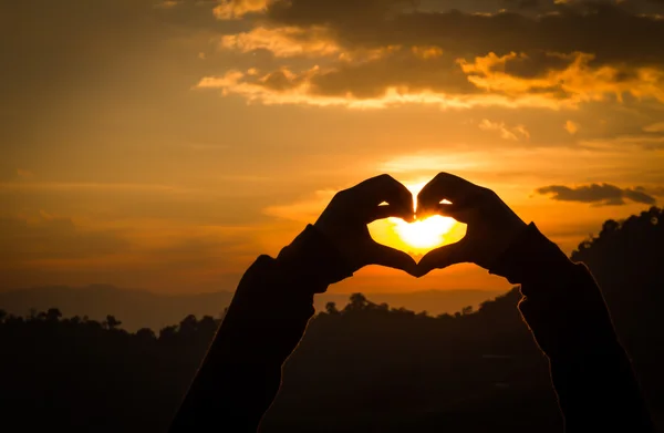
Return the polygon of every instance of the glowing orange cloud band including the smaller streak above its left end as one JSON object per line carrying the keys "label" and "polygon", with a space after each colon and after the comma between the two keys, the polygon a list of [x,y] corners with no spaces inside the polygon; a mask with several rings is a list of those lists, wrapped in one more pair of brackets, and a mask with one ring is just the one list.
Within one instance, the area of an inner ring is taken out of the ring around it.
{"label": "glowing orange cloud band including the smaller streak above its left end", "polygon": [[[282,29],[274,37],[268,34],[243,41],[242,35],[226,37],[225,43],[241,45],[241,50],[271,48],[277,56],[340,52],[331,40],[291,40],[305,34],[294,28]],[[457,109],[495,105],[560,110],[584,102],[620,102],[624,95],[664,102],[664,70],[596,65],[594,55],[580,52],[548,56],[556,59],[556,68],[517,73],[510,64],[527,61],[527,54],[499,56],[491,52],[465,60],[430,48],[394,45],[371,52],[341,52],[324,64],[300,71],[283,66],[262,76],[228,71],[221,76],[204,78],[197,87],[217,87],[226,95],[238,94],[266,104],[321,106],[417,103]]]}

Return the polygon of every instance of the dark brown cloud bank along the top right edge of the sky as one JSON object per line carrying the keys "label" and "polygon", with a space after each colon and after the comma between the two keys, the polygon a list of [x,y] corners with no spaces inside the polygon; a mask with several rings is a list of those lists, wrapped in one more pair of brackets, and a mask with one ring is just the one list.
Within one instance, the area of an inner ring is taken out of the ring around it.
{"label": "dark brown cloud bank along the top right edge of the sky", "polygon": [[662,9],[655,3],[546,2],[550,13],[537,16],[522,13],[522,2],[502,10],[509,3],[494,1],[492,13],[450,10],[449,3],[423,10],[397,0],[279,0],[266,17],[274,25],[328,27],[346,49],[434,44],[463,55],[582,51],[600,62],[642,64],[661,64],[664,54],[664,20],[642,13]]}

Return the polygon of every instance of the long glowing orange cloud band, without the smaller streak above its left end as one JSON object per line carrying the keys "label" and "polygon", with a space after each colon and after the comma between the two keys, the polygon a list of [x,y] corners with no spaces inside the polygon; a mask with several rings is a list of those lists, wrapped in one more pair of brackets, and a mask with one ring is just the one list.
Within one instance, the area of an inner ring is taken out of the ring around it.
{"label": "long glowing orange cloud band, without the smaller streak above its left end", "polygon": [[[516,55],[516,54],[515,54]],[[398,60],[397,60],[398,59]],[[649,75],[656,83],[636,76],[621,83],[604,76],[605,71],[568,69],[542,79],[520,79],[495,72],[490,62],[501,59],[490,54],[489,62],[456,62],[448,56],[424,59],[401,48],[376,54],[371,60],[340,61],[333,65],[314,65],[300,71],[280,68],[262,74],[230,70],[224,75],[206,76],[196,89],[219,89],[224,95],[240,95],[267,105],[305,104],[382,109],[404,104],[437,105],[443,109],[475,106],[575,107],[583,101],[602,101],[623,91],[664,101],[664,83],[658,74]],[[578,69],[578,64],[570,66]],[[569,76],[569,80],[568,80]],[[566,80],[568,80],[566,82]],[[594,84],[591,84],[594,83]]]}

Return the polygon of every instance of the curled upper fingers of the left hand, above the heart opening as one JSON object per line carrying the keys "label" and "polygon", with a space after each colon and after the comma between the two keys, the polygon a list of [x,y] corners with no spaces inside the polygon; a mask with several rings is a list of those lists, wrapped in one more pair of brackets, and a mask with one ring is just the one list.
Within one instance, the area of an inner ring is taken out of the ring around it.
{"label": "curled upper fingers of the left hand, above the heart opening", "polygon": [[413,193],[390,175],[372,177],[353,189],[357,198],[371,207],[387,202],[395,209],[403,209],[404,214],[413,214]]}

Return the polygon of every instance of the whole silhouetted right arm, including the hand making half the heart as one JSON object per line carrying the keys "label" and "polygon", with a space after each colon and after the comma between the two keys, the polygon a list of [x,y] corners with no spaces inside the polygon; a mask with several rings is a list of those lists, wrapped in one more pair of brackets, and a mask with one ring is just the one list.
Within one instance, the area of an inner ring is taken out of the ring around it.
{"label": "whole silhouetted right arm, including the hand making half the heart", "polygon": [[495,192],[453,174],[438,173],[417,199],[418,215],[468,225],[461,240],[427,252],[418,275],[471,262],[521,285],[519,309],[549,357],[568,433],[654,431],[604,298],[584,265],[569,260]]}

